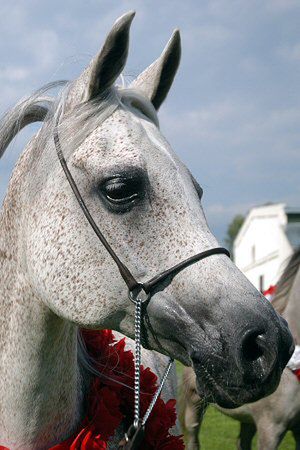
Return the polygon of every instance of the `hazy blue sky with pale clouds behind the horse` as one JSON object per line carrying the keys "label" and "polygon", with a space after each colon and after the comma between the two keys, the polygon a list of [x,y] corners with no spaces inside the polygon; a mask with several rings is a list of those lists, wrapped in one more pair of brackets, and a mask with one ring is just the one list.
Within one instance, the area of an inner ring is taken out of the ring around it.
{"label": "hazy blue sky with pale clouds behind the horse", "polygon": [[[160,111],[161,129],[203,187],[217,237],[253,205],[300,206],[299,0],[1,2],[1,112],[49,81],[79,75],[130,9],[137,15],[129,77],[181,30],[182,62]],[[0,162],[0,200],[34,129]]]}

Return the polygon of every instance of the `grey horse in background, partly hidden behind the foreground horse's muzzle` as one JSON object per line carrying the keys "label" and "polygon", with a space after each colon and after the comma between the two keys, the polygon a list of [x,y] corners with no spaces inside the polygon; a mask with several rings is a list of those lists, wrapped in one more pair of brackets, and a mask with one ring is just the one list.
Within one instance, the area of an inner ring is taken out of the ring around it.
{"label": "grey horse in background, partly hidden behind the foreground horse's muzzle", "polygon": [[[300,344],[300,249],[291,257],[283,272],[272,305],[288,321],[296,344]],[[196,391],[191,368],[185,368],[180,400],[181,423],[189,450],[199,450],[199,432],[205,406]],[[283,371],[277,390],[255,403],[236,409],[219,408],[241,422],[237,448],[251,450],[257,432],[259,450],[275,450],[285,433],[291,430],[300,449],[300,382],[293,372]]]}

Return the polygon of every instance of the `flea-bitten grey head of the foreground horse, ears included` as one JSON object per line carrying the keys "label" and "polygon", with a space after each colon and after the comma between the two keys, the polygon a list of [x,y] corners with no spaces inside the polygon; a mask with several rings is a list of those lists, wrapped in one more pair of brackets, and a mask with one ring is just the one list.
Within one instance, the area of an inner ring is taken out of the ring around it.
{"label": "flea-bitten grey head of the foreground horse, ears included", "polygon": [[[179,32],[129,87],[115,85],[133,16],[117,20],[35,137],[35,176],[27,186],[34,195],[24,219],[27,271],[44,304],[76,326],[130,337],[134,305],[61,170],[55,127],[89,212],[136,279],[146,281],[217,246],[201,207],[202,189],[163,137],[157,117],[179,64]],[[155,331],[151,348],[192,365],[200,394],[227,407],[271,393],[293,350],[285,321],[222,254],[189,265],[157,288],[147,314]]]}

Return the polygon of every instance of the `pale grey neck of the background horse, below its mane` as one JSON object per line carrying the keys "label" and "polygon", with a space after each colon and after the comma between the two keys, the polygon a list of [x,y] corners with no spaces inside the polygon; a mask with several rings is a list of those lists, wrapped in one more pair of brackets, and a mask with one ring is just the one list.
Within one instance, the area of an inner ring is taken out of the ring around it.
{"label": "pale grey neck of the background horse, below its mane", "polygon": [[300,345],[300,268],[288,295],[287,306],[282,316],[289,324],[295,343]]}

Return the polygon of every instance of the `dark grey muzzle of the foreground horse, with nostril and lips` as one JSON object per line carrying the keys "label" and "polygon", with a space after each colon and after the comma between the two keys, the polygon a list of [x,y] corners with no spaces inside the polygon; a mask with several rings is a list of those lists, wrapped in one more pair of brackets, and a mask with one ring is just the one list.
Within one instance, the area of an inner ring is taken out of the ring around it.
{"label": "dark grey muzzle of the foreground horse, with nostril and lips", "polygon": [[274,322],[268,327],[260,322],[248,326],[229,341],[220,336],[220,354],[206,346],[192,351],[199,395],[224,408],[236,408],[274,392],[294,351],[287,323],[279,316]]}

